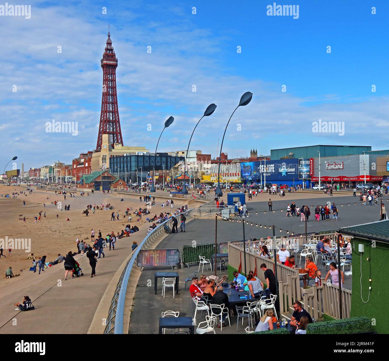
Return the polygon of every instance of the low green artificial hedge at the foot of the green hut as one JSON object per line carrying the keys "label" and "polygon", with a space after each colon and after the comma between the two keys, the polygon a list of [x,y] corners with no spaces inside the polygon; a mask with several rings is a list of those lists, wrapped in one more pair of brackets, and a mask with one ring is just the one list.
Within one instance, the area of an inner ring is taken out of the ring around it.
{"label": "low green artificial hedge at the foot of the green hut", "polygon": [[371,321],[367,317],[352,317],[342,320],[314,322],[307,326],[310,335],[344,335],[373,332]]}

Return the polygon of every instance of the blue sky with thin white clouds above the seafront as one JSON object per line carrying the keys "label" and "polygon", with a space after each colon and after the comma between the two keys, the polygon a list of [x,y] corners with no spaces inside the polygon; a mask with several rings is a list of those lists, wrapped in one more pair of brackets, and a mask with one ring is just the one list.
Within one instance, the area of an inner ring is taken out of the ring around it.
{"label": "blue sky with thin white clouds above the seafront", "polygon": [[[313,144],[387,149],[389,3],[276,2],[299,5],[298,19],[267,16],[269,4],[35,1],[30,19],[0,16],[0,166],[14,155],[25,169],[71,163],[95,148],[108,24],[125,145],[153,150],[172,115],[159,149],[185,149],[202,112],[216,103],[191,144],[215,156],[231,112],[251,91],[252,102],[235,112],[226,133],[230,156]],[[78,135],[46,133],[51,119],[78,122]],[[344,122],[344,135],[313,133],[319,119]]]}

